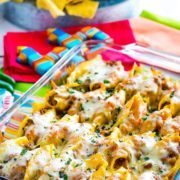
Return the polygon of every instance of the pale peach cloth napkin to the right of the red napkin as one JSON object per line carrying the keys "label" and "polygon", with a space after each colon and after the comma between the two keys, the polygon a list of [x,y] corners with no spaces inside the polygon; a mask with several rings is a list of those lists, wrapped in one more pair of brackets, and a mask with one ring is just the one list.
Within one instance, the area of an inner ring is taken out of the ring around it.
{"label": "pale peach cloth napkin to the right of the red napkin", "polygon": [[180,56],[180,31],[141,17],[130,24],[138,44]]}

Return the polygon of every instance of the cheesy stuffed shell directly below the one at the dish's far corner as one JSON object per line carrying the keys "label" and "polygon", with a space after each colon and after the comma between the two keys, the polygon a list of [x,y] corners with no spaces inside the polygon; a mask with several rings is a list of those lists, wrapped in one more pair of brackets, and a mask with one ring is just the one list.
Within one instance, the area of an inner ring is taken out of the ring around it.
{"label": "cheesy stuffed shell directly below the one at the dish's far corner", "polygon": [[92,121],[100,126],[113,119],[113,112],[122,108],[125,103],[125,92],[99,89],[85,93],[84,98],[76,102],[81,122]]}

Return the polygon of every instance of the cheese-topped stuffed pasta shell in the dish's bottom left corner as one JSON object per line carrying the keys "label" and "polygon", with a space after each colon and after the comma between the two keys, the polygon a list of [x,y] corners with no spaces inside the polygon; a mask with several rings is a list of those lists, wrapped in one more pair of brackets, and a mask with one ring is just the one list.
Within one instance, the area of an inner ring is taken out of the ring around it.
{"label": "cheese-topped stuffed pasta shell in the dish's bottom left corner", "polygon": [[29,148],[26,137],[7,140],[0,145],[0,174],[8,179],[23,179],[26,167],[37,149]]}

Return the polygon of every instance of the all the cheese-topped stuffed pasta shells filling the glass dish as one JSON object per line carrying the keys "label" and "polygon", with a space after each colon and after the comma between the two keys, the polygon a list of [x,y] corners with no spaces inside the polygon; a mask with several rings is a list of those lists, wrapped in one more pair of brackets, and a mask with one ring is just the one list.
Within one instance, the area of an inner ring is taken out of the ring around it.
{"label": "all the cheese-topped stuffed pasta shells filling the glass dish", "polygon": [[180,167],[179,83],[101,56],[68,69],[0,144],[9,179],[173,179]]}

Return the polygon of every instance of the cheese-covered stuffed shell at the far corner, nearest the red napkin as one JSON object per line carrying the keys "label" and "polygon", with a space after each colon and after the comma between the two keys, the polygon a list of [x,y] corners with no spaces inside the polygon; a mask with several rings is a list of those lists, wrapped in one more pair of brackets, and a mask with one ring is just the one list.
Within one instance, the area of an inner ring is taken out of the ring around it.
{"label": "cheese-covered stuffed shell at the far corner, nearest the red napkin", "polygon": [[113,88],[127,76],[118,61],[103,61],[101,56],[81,63],[67,78],[70,86],[88,87],[90,90],[105,86]]}

